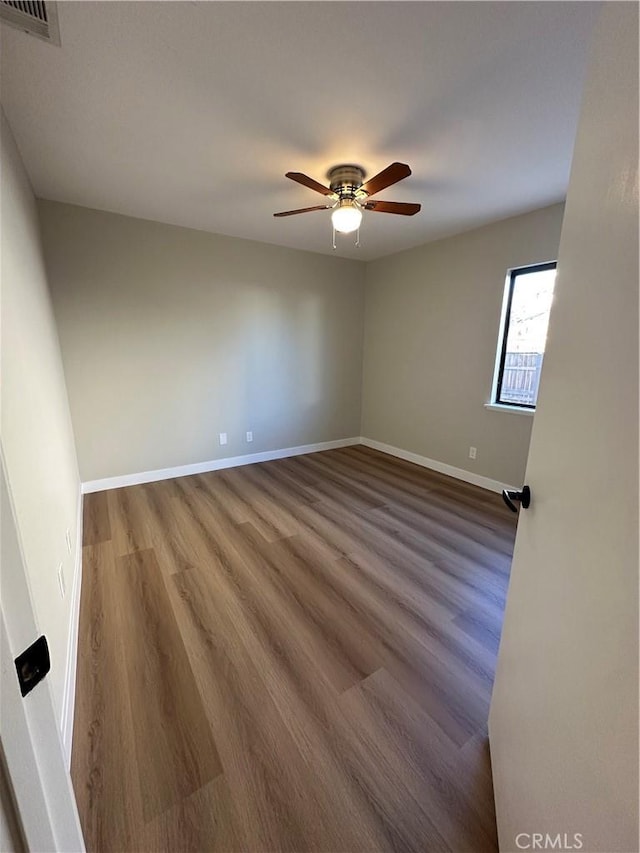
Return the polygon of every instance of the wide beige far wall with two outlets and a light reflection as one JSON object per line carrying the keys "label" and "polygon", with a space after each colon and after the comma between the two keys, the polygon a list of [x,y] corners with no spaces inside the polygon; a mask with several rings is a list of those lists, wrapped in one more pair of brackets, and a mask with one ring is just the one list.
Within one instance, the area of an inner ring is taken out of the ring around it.
{"label": "wide beige far wall with two outlets and a light reflection", "polygon": [[39,210],[83,481],[359,435],[362,264]]}

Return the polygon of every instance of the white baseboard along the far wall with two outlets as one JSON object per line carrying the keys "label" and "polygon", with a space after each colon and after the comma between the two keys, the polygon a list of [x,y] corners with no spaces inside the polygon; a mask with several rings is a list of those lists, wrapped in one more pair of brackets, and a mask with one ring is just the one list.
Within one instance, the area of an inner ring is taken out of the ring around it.
{"label": "white baseboard along the far wall with two outlets", "polygon": [[82,484],[82,493],[86,495],[90,492],[120,489],[123,486],[155,483],[157,480],[188,477],[190,474],[206,474],[209,471],[220,471],[223,468],[236,468],[239,465],[252,465],[255,462],[269,462],[271,459],[285,459],[287,456],[301,456],[303,453],[317,453],[320,450],[350,447],[353,444],[360,444],[360,441],[359,436],[355,438],[340,438],[337,441],[321,441],[318,444],[302,444],[299,447],[285,447],[281,450],[264,450],[261,453],[248,453],[246,456],[227,456],[225,459],[211,459],[208,462],[195,462],[192,465],[180,465],[176,468],[160,468],[157,471],[143,471],[140,474],[123,474],[121,477],[88,480]]}

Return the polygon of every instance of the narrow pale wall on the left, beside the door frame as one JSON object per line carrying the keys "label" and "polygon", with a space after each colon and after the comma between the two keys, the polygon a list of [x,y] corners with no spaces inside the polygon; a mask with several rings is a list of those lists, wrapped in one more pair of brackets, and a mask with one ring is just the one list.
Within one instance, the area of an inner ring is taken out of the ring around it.
{"label": "narrow pale wall on the left, beside the door frame", "polygon": [[49,681],[60,723],[80,480],[36,202],[3,113],[1,123],[2,455],[38,627],[49,642]]}

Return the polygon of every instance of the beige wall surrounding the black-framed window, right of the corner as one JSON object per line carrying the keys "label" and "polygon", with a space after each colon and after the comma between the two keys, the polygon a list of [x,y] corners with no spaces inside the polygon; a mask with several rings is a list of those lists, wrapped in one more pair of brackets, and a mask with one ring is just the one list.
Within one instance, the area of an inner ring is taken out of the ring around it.
{"label": "beige wall surrounding the black-framed window, right of the corner", "polygon": [[367,265],[362,435],[522,482],[532,418],[484,403],[506,271],[556,258],[562,213],[553,205]]}

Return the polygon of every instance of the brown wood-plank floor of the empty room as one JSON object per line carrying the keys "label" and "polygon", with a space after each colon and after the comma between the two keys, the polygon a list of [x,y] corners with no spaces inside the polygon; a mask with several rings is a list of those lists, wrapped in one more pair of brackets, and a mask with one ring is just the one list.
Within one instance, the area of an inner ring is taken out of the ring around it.
{"label": "brown wood-plank floor of the empty room", "polygon": [[514,519],[357,446],[85,497],[92,851],[497,850]]}

